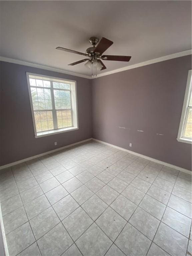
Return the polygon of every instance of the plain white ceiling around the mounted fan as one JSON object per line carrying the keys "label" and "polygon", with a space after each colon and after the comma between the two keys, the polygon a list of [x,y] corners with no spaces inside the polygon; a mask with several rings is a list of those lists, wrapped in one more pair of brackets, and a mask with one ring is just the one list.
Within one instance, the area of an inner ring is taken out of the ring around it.
{"label": "plain white ceiling around the mounted fan", "polygon": [[114,44],[105,54],[130,62],[103,61],[106,72],[191,49],[191,1],[1,1],[0,55],[90,75],[84,63],[89,37]]}

